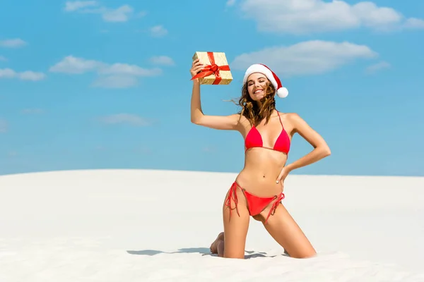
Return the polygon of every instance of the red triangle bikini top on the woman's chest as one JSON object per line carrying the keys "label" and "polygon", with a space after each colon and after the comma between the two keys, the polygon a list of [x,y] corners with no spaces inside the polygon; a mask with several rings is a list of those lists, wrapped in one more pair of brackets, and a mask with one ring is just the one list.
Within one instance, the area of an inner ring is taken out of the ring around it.
{"label": "red triangle bikini top on the woman's chest", "polygon": [[250,128],[249,133],[246,135],[245,139],[245,147],[246,151],[253,147],[262,147],[266,149],[272,149],[275,151],[283,152],[285,154],[288,154],[290,151],[290,138],[288,137],[287,132],[284,130],[283,123],[281,122],[280,113],[278,113],[278,118],[280,119],[281,126],[283,127],[281,129],[280,135],[278,135],[278,138],[272,148],[270,147],[264,147],[264,144],[262,142],[262,136],[261,133],[257,130],[257,128],[253,125],[252,128]]}

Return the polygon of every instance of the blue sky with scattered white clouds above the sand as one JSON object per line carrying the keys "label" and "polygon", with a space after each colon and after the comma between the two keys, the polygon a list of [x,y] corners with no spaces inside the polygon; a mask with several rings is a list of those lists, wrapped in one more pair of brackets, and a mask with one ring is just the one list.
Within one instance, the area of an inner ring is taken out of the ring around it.
{"label": "blue sky with scattered white clouds above the sand", "polygon": [[[237,107],[266,63],[332,155],[293,173],[424,176],[423,1],[2,1],[0,174],[87,168],[237,172],[239,133],[190,123],[195,51],[234,80],[202,87],[205,114]],[[288,161],[310,152],[299,135]]]}

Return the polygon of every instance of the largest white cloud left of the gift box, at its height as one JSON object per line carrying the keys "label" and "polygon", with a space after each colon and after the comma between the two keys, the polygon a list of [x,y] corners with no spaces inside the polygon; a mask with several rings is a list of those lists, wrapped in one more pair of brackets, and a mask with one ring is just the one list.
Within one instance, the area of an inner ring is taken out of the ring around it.
{"label": "largest white cloud left of the gift box, at its height", "polygon": [[80,75],[93,72],[99,75],[92,84],[93,87],[127,88],[137,85],[138,78],[157,76],[162,74],[160,68],[141,68],[127,63],[104,63],[95,60],[86,60],[75,56],[66,56],[55,64],[49,71],[52,73],[67,73]]}

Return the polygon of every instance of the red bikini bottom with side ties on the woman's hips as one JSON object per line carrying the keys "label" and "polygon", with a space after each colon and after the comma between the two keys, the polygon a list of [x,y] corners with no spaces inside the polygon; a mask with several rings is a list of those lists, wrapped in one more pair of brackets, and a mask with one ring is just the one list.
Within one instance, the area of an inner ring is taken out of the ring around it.
{"label": "red bikini bottom with side ties on the woman's hips", "polygon": [[232,183],[230,192],[228,192],[227,200],[225,200],[225,206],[230,208],[230,216],[231,216],[231,200],[235,202],[235,209],[237,214],[240,216],[238,212],[238,199],[237,199],[237,193],[236,189],[239,187],[243,195],[245,195],[246,202],[247,202],[247,209],[249,209],[249,214],[251,216],[256,216],[260,214],[266,207],[268,207],[269,204],[273,200],[276,200],[273,204],[271,209],[269,210],[268,216],[266,216],[265,223],[268,221],[269,216],[273,215],[276,212],[276,208],[278,207],[278,204],[281,204],[281,200],[284,199],[285,195],[283,192],[281,192],[280,195],[275,195],[273,197],[258,197],[257,195],[253,195],[252,193],[247,192],[244,188],[241,188],[240,185],[237,184],[237,182]]}

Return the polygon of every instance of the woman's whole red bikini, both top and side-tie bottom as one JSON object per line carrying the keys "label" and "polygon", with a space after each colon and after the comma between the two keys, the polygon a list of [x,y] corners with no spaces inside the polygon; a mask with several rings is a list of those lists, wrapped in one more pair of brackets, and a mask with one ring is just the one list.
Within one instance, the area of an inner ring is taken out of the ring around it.
{"label": "woman's whole red bikini, both top and side-tie bottom", "polygon": [[[283,123],[281,122],[281,116],[280,113],[278,113],[278,118],[280,119],[280,123],[282,126],[281,133],[278,135],[278,138],[273,145],[273,147],[264,147],[264,143],[262,141],[261,133],[257,130],[257,128],[253,125],[252,128],[249,130],[249,133],[246,135],[245,139],[245,147],[246,151],[248,149],[251,149],[253,147],[261,147],[265,149],[272,149],[274,151],[283,152],[284,154],[288,154],[290,151],[290,138],[288,137],[287,132],[284,130]],[[235,209],[237,211],[237,214],[240,216],[237,208],[238,199],[237,199],[237,187],[242,190],[243,195],[245,195],[246,202],[247,202],[247,209],[249,209],[249,214],[251,216],[256,216],[260,214],[261,212],[266,209],[266,207],[273,202],[271,209],[269,210],[268,216],[266,216],[265,223],[268,221],[269,216],[273,215],[276,211],[276,208],[278,207],[278,204],[281,203],[281,200],[284,199],[284,194],[281,192],[280,195],[275,195],[273,197],[258,197],[257,195],[253,195],[252,193],[247,192],[244,188],[242,188],[240,185],[237,184],[235,181],[232,183],[230,191],[228,192],[227,200],[225,200],[225,205],[230,208],[230,216],[231,216],[231,200],[235,202]]]}

